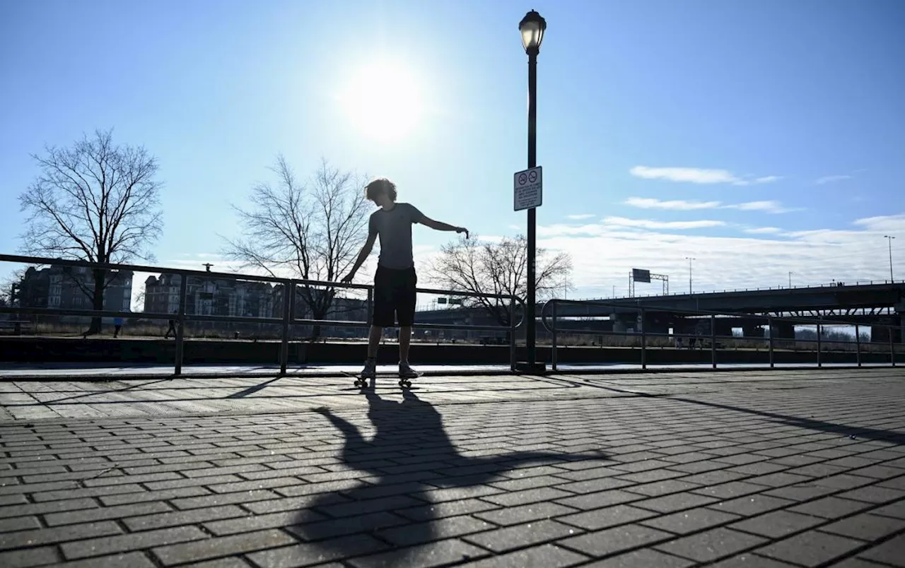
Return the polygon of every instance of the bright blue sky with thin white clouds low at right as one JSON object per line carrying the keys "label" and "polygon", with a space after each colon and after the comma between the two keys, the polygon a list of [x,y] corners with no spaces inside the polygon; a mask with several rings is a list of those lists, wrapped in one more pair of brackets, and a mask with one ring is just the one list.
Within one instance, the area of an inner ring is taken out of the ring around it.
{"label": "bright blue sky with thin white clouds low at right", "polygon": [[[387,175],[482,236],[523,231],[531,8],[548,21],[538,236],[576,260],[570,297],[624,293],[632,267],[681,289],[688,256],[696,289],[888,279],[883,234],[905,276],[895,0],[6,2],[0,251],[19,245],[29,155],[94,128],[158,157],[167,266],[216,262],[230,204],[280,152],[300,175],[321,157]],[[343,99],[375,62],[421,108],[392,140]],[[416,229],[419,259],[450,238]]]}

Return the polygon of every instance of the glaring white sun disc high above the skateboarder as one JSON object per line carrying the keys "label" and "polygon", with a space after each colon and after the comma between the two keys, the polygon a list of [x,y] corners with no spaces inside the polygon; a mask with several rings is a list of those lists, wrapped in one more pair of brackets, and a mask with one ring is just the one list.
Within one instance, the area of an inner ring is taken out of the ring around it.
{"label": "glaring white sun disc high above the skateboarder", "polygon": [[405,137],[418,126],[423,105],[419,85],[404,67],[374,63],[357,71],[343,93],[349,120],[381,142]]}

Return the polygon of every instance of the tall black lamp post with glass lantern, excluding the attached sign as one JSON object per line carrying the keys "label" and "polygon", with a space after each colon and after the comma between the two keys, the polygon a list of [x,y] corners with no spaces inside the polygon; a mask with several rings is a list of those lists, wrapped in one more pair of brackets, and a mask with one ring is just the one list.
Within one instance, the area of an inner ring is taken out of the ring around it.
{"label": "tall black lamp post with glass lantern, excluding the attached sign", "polygon": [[[519,22],[521,44],[528,53],[528,167],[538,166],[538,53],[540,43],[547,30],[547,21],[540,14],[531,10]],[[529,373],[543,372],[546,365],[538,364],[537,336],[535,332],[535,308],[537,306],[537,282],[535,281],[535,260],[537,257],[537,210],[528,210],[528,298],[525,303],[525,346],[528,349],[528,364],[523,371]]]}

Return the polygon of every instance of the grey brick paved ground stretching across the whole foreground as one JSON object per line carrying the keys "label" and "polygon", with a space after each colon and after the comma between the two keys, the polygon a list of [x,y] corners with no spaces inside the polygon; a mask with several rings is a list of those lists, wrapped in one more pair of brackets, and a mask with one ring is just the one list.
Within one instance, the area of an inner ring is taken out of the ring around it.
{"label": "grey brick paved ground stretching across the whole foreground", "polygon": [[905,566],[905,372],[2,383],[0,566]]}

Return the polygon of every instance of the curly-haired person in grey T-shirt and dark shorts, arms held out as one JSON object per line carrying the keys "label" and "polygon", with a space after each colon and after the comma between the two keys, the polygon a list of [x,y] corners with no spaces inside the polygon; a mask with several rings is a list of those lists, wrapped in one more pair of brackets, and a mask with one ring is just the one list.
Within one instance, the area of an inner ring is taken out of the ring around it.
{"label": "curly-haired person in grey T-shirt and dark shorts, arms held out", "polygon": [[418,282],[412,254],[412,225],[420,222],[436,231],[464,232],[466,239],[468,229],[434,221],[412,204],[397,204],[395,184],[386,178],[368,184],[365,196],[380,209],[371,213],[367,223],[367,241],[358,253],[352,270],[342,279],[343,282],[351,282],[355,278],[355,273],[371,253],[374,241],[380,237],[380,258],[374,274],[374,315],[367,337],[367,361],[361,376],[373,379],[376,375],[377,347],[384,327],[393,327],[398,320],[399,376],[411,379],[418,376],[408,363]]}

